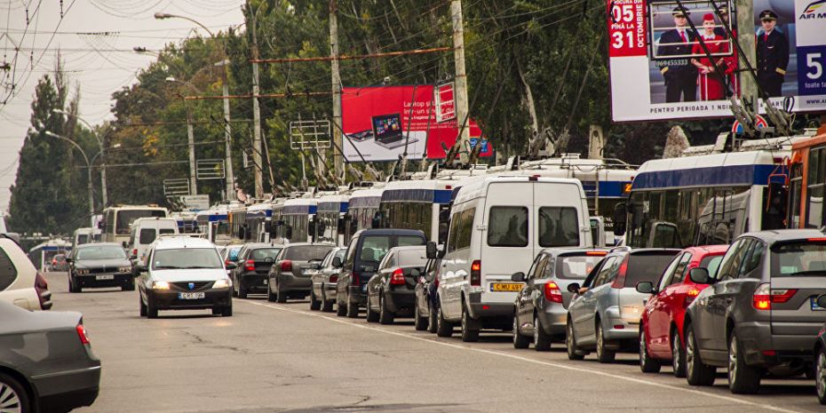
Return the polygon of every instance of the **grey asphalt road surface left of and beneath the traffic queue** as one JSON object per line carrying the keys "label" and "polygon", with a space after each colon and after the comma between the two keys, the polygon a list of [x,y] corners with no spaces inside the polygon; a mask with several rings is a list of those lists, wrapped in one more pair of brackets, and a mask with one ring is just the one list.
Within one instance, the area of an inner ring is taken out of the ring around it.
{"label": "grey asphalt road surface left of and beneath the traffic queue", "polygon": [[636,354],[616,364],[515,350],[510,334],[479,343],[310,312],[306,301],[234,300],[234,316],[209,311],[138,314],[138,293],[69,294],[48,274],[54,310],[83,313],[103,364],[100,395],[82,412],[805,412],[824,411],[814,381],[766,380],[735,396],[725,373],[696,388],[663,368],[644,375]]}

